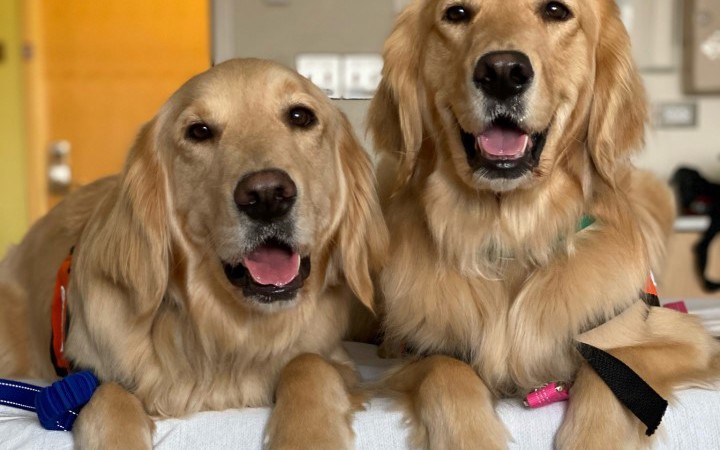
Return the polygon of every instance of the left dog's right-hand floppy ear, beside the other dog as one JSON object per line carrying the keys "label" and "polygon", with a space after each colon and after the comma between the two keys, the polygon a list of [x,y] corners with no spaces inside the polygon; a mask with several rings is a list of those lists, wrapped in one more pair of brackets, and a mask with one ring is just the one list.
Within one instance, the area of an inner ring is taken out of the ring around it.
{"label": "left dog's right-hand floppy ear, beside the other dog", "polygon": [[337,237],[337,255],[348,285],[373,310],[372,272],[379,269],[388,247],[388,231],[380,209],[369,155],[342,116],[340,167],[344,178],[344,210]]}

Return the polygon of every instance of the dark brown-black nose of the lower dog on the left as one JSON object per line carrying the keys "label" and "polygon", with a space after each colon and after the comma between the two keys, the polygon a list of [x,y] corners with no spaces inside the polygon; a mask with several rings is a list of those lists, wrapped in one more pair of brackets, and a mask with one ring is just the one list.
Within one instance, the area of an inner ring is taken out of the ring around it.
{"label": "dark brown-black nose of the lower dog on the left", "polygon": [[251,173],[235,187],[235,204],[251,219],[271,222],[290,211],[297,187],[290,176],[278,169]]}

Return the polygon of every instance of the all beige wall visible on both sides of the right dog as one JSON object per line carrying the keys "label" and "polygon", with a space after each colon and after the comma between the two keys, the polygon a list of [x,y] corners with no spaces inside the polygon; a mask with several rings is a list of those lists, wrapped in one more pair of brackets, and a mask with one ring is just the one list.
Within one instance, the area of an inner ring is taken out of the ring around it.
{"label": "all beige wall visible on both sides of the right dog", "polygon": [[[628,0],[623,0],[627,2]],[[632,0],[637,5],[650,5],[655,0]],[[232,56],[258,56],[275,59],[294,66],[298,53],[308,52],[380,52],[395,17],[395,7],[402,1],[391,0],[285,0],[285,6],[270,6],[266,0],[235,2],[215,0],[225,8],[227,17],[216,16],[216,25],[225,28],[216,33],[215,54],[220,60]],[[622,2],[621,2],[622,3]],[[647,150],[636,157],[639,166],[648,168],[663,178],[681,164],[703,169],[707,176],[720,180],[720,96],[687,97],[682,93],[679,64],[679,31],[671,20],[677,18],[678,3],[663,0],[663,8],[654,8],[652,20],[637,15],[639,31],[633,33],[638,46],[650,47],[643,65],[662,63],[675,68],[662,71],[644,70],[643,78],[653,103],[696,101],[698,124],[685,129],[648,129]],[[223,6],[224,5],[224,6]],[[228,20],[228,17],[232,17]],[[645,18],[645,19],[644,19]],[[218,20],[219,19],[219,20]],[[660,23],[660,25],[659,25]],[[662,25],[665,23],[665,25]],[[646,42],[644,28],[652,28],[660,36],[654,44]],[[664,28],[665,29],[664,29]],[[220,40],[221,42],[217,42]],[[667,48],[668,43],[673,48]],[[662,48],[654,48],[661,45]],[[219,48],[218,48],[219,47]],[[662,50],[662,51],[661,51]],[[364,135],[364,116],[367,101],[340,101],[356,127]]]}

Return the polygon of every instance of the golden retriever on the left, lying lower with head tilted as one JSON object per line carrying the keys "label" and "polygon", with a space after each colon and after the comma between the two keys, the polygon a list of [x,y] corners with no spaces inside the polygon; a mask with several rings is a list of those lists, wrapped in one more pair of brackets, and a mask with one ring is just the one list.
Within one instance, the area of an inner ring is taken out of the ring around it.
{"label": "golden retriever on the left, lying lower with head tilted", "polygon": [[[99,151],[102,151],[99,148]],[[308,80],[232,60],[182,86],[121,175],[69,195],[0,267],[0,371],[52,378],[55,274],[74,247],[64,354],[101,381],[82,448],[150,448],[151,418],[271,405],[270,448],[352,448],[341,347],[387,230],[369,157]]]}

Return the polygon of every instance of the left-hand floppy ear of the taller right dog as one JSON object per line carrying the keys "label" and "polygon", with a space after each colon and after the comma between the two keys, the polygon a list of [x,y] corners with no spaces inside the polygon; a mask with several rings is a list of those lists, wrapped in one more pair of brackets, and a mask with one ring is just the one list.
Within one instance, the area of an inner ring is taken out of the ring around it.
{"label": "left-hand floppy ear of the taller right dog", "polygon": [[420,79],[421,3],[400,14],[385,41],[382,80],[370,103],[368,129],[375,148],[399,159],[396,183],[412,176],[423,137],[423,88]]}

